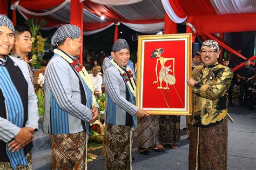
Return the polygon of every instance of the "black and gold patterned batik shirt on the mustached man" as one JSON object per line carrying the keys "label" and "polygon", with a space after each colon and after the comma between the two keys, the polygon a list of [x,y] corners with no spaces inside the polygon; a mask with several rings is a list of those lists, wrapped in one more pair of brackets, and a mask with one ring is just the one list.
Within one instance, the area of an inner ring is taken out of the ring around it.
{"label": "black and gold patterned batik shirt on the mustached man", "polygon": [[192,77],[199,81],[192,88],[193,126],[215,126],[227,115],[227,90],[233,72],[216,62],[209,66],[196,66]]}

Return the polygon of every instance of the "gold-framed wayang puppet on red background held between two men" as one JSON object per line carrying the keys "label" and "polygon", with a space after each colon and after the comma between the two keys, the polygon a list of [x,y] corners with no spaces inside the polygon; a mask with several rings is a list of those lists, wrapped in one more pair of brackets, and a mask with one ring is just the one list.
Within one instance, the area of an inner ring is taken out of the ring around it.
{"label": "gold-framed wayang puppet on red background held between two men", "polygon": [[191,115],[192,35],[139,36],[136,105],[150,114]]}

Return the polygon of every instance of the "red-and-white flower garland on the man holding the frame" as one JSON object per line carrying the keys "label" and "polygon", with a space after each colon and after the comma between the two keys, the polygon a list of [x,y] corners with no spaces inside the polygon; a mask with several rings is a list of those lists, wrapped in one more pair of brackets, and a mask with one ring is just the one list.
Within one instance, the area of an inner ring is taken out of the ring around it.
{"label": "red-and-white flower garland on the man holding the frame", "polygon": [[[111,59],[110,62],[122,73],[122,76],[124,77],[130,91],[132,92],[133,96],[136,97],[136,85],[133,79],[132,71],[129,69],[129,67],[126,67],[126,71],[129,74],[130,79],[127,77],[127,74],[124,72],[124,70],[116,63],[114,62],[114,59]],[[131,82],[130,82],[131,80]]]}

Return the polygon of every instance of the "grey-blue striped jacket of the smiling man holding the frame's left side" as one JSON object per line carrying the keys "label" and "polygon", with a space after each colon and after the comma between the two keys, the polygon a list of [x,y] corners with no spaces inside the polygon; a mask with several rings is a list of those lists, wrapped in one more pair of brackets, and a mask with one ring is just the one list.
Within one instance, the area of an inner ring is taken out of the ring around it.
{"label": "grey-blue striped jacket of the smiling man holding the frame's left side", "polygon": [[[134,77],[135,79],[135,77]],[[127,125],[127,115],[133,118],[133,126],[136,125],[136,112],[138,107],[135,106],[134,97],[127,99],[126,83],[119,70],[110,65],[104,73],[103,83],[106,88],[106,122],[113,125]],[[130,97],[133,95],[128,92]]]}

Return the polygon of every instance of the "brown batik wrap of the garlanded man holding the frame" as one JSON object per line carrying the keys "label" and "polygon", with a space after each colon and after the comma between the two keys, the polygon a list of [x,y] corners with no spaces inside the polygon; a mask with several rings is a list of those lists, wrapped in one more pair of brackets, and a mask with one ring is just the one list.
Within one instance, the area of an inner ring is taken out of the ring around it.
{"label": "brown batik wrap of the garlanded man holding the frame", "polygon": [[106,127],[104,169],[132,169],[134,127],[111,124],[107,124]]}

